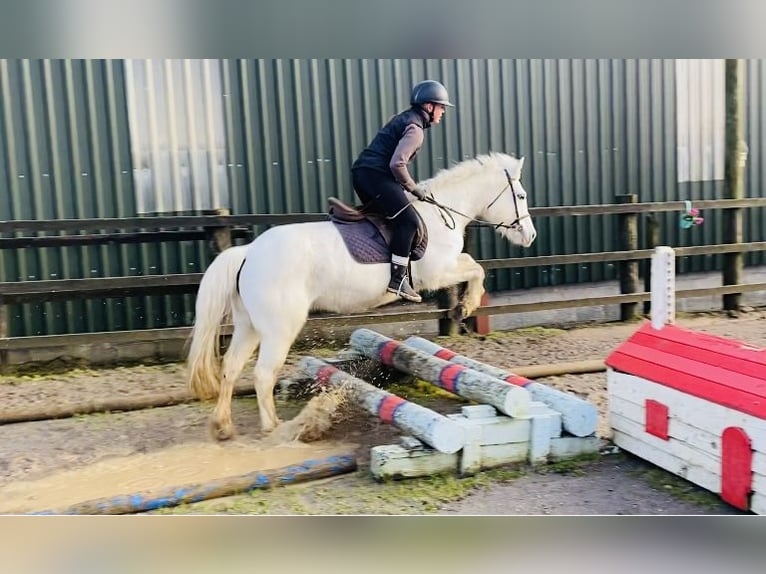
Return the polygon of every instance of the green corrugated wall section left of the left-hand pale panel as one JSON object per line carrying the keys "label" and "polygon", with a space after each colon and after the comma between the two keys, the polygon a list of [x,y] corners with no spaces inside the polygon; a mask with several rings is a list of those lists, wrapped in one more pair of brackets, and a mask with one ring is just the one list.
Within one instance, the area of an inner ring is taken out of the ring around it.
{"label": "green corrugated wall section left of the left-hand pale panel", "polygon": [[[139,212],[125,62],[0,60],[0,220]],[[0,251],[3,281],[198,271],[199,252],[149,245]],[[187,248],[188,249],[188,248]],[[89,299],[9,308],[11,335],[187,325],[191,297]]]}

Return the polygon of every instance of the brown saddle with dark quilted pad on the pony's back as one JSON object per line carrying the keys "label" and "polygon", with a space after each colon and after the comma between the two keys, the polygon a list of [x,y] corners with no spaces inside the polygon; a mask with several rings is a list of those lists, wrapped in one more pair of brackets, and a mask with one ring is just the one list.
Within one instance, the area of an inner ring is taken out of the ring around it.
{"label": "brown saddle with dark quilted pad on the pony's back", "polygon": [[[328,200],[328,216],[340,232],[346,248],[358,263],[390,263],[391,237],[393,227],[385,216],[379,213],[366,213],[356,207],[343,203],[337,197]],[[416,212],[417,213],[417,212]],[[421,259],[428,246],[428,230],[423,219],[418,216],[418,230],[415,234],[414,248],[410,260]]]}

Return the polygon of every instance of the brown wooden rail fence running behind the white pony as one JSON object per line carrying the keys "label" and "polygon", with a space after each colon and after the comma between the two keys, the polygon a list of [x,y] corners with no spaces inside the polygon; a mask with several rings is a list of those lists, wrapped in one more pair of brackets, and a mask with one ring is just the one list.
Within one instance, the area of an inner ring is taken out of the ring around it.
{"label": "brown wooden rail fence running behind the white pony", "polygon": [[[600,253],[579,253],[569,255],[543,255],[536,257],[513,257],[507,259],[480,260],[486,269],[534,267],[543,265],[566,265],[572,263],[620,263],[621,294],[608,297],[585,297],[571,301],[544,301],[539,303],[489,305],[479,308],[475,317],[497,314],[520,313],[540,310],[554,310],[600,305],[620,305],[622,318],[628,319],[637,313],[637,305],[649,300],[646,284],[641,288],[635,277],[636,268],[631,262],[649,259],[649,249],[638,249],[634,226],[641,213],[683,211],[685,202],[635,203],[635,196],[620,196],[624,203],[603,205],[579,205],[568,207],[538,207],[530,209],[533,217],[616,215],[620,220],[618,250]],[[723,199],[695,201],[700,209],[736,210],[742,208],[766,207],[766,198]],[[194,215],[174,217],[134,217],[110,219],[68,219],[68,220],[15,220],[0,222],[0,250],[90,246],[107,244],[154,243],[188,240],[208,240],[220,249],[234,239],[252,237],[253,226],[270,226],[284,223],[326,220],[325,214],[286,215]],[[19,235],[23,234],[23,235]],[[651,239],[650,239],[651,241]],[[676,247],[680,257],[693,255],[725,254],[743,257],[745,252],[766,250],[766,241],[750,243],[726,243],[693,247]],[[635,263],[637,265],[637,263]],[[67,300],[76,298],[123,297],[147,294],[194,293],[201,273],[173,275],[145,275],[130,277],[108,277],[97,279],[59,279],[39,281],[0,282],[0,365],[7,351],[16,349],[40,349],[65,347],[89,343],[127,341],[161,341],[185,339],[188,327],[168,329],[145,329],[108,333],[80,333],[71,335],[45,335],[29,337],[8,337],[5,324],[5,306],[36,301]],[[681,290],[677,298],[702,297],[709,295],[732,295],[751,291],[766,290],[766,283],[743,284],[734,277],[721,287]],[[314,314],[309,325],[317,326],[361,326],[370,324],[439,320],[440,329],[450,324],[448,309],[424,308],[424,306],[396,305],[388,309],[354,315]],[[454,326],[453,326],[454,327]]]}

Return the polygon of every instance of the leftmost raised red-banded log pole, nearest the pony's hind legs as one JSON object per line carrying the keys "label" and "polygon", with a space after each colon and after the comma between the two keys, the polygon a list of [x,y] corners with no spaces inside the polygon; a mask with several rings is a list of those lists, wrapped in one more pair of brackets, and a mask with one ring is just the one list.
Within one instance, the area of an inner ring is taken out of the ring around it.
{"label": "leftmost raised red-banded log pole, nearest the pony's hind legs", "polygon": [[320,387],[350,388],[353,399],[368,413],[419,438],[439,452],[452,454],[465,444],[465,430],[431,409],[379,389],[321,359],[302,357],[298,367]]}

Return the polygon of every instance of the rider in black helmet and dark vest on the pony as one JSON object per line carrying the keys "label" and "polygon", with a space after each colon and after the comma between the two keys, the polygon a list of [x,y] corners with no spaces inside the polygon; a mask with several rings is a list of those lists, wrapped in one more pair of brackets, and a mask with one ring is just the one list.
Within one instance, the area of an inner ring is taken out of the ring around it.
{"label": "rider in black helmet and dark vest on the pony", "polygon": [[391,118],[351,167],[354,190],[365,206],[372,206],[391,219],[391,280],[387,291],[420,303],[412,288],[407,267],[418,217],[405,191],[417,199],[426,198],[426,189],[412,179],[407,164],[423,145],[424,130],[438,124],[449,101],[447,89],[435,80],[415,84],[411,107]]}

